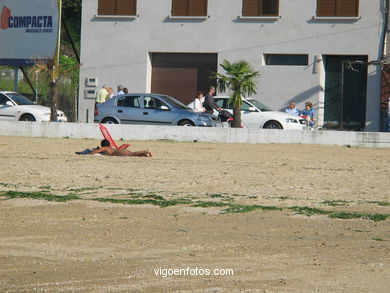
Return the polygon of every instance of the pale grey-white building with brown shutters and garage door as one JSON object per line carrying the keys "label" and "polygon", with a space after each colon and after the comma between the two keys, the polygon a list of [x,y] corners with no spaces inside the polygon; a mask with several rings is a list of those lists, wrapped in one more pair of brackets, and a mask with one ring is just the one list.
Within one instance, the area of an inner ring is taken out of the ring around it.
{"label": "pale grey-white building with brown shutters and garage door", "polygon": [[[83,0],[79,121],[104,84],[189,102],[224,59],[261,77],[256,98],[311,101],[319,125],[379,130],[385,0]],[[343,70],[342,70],[343,68]]]}

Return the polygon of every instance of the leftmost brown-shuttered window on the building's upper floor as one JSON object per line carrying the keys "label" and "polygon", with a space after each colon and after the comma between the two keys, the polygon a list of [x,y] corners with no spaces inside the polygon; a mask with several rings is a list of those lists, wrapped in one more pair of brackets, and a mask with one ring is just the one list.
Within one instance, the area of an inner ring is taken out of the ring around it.
{"label": "leftmost brown-shuttered window on the building's upper floor", "polygon": [[137,0],[99,0],[99,15],[136,15]]}

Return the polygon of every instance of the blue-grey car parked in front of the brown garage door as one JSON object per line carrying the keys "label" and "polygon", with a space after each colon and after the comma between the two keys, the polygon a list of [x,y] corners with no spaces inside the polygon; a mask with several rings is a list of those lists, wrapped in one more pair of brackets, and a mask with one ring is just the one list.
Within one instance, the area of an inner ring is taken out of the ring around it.
{"label": "blue-grey car parked in front of the brown garage door", "polygon": [[166,95],[131,93],[115,96],[95,107],[95,122],[180,126],[216,126],[217,117],[196,113]]}

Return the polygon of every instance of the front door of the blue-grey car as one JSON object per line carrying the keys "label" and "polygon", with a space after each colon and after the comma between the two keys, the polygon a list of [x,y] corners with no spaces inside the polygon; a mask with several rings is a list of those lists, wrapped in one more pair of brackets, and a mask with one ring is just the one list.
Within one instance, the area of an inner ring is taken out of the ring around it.
{"label": "front door of the blue-grey car", "polygon": [[171,107],[157,96],[145,95],[143,97],[143,118],[148,124],[171,125],[174,114]]}

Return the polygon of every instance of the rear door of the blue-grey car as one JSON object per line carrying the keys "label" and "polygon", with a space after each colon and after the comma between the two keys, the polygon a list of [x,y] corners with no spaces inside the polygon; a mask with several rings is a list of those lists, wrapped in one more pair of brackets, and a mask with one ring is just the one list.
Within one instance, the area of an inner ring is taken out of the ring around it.
{"label": "rear door of the blue-grey car", "polygon": [[142,124],[143,109],[141,108],[141,97],[138,95],[119,97],[114,112],[115,116],[123,124]]}

